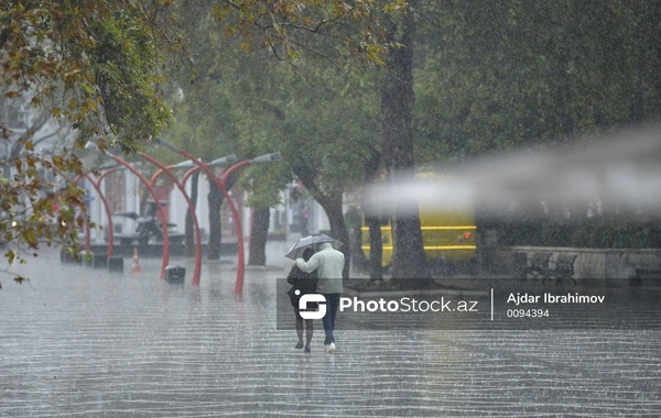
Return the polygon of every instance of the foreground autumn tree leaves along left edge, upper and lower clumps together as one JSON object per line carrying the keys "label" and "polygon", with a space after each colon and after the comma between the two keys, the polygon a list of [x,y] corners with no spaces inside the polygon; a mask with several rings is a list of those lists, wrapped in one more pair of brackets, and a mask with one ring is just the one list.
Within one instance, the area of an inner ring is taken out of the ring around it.
{"label": "foreground autumn tree leaves along left edge, upper and lower clumps together", "polygon": [[[4,98],[25,100],[44,120],[51,116],[71,123],[76,146],[95,138],[101,146],[134,151],[171,118],[159,89],[164,81],[159,74],[163,52],[180,45],[169,30],[170,7],[169,0],[2,2]],[[15,138],[9,122],[0,119],[6,141]],[[71,150],[35,154],[33,134],[28,130],[13,142],[15,152],[9,157],[15,173],[1,180],[0,242],[36,250],[40,238],[48,243],[61,238],[75,248],[74,226],[80,222],[74,219],[76,208],[84,211],[85,206],[82,189],[71,179],[82,164]],[[19,148],[23,153],[17,158]],[[42,178],[40,167],[56,183]],[[65,187],[59,182],[66,182]],[[17,253],[10,249],[6,256],[11,264]]]}

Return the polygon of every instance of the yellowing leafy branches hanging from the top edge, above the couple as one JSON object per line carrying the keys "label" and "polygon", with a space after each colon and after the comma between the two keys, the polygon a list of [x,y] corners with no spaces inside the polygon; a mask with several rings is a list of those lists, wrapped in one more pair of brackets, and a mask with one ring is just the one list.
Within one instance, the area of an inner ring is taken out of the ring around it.
{"label": "yellowing leafy branches hanging from the top edge, above the couple", "polygon": [[[388,45],[378,15],[407,9],[401,0],[247,0],[214,4],[212,13],[225,23],[226,35],[239,37],[246,52],[266,48],[279,59],[302,63],[324,55],[324,47],[330,45],[382,65]],[[326,58],[333,62],[330,55]]]}

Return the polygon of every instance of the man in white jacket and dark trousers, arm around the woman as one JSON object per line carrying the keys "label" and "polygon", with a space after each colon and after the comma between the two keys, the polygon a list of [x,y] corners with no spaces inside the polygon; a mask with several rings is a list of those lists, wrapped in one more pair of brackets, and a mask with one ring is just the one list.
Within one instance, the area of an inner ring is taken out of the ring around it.
{"label": "man in white jacket and dark trousers, arm around the woman", "polygon": [[303,272],[311,273],[317,271],[317,293],[326,298],[326,315],[322,319],[326,339],[326,352],[335,351],[335,316],[339,308],[339,296],[343,292],[342,271],[344,270],[344,254],[333,249],[329,242],[319,244],[319,251],[314,253],[307,262],[303,258],[296,258],[296,265]]}

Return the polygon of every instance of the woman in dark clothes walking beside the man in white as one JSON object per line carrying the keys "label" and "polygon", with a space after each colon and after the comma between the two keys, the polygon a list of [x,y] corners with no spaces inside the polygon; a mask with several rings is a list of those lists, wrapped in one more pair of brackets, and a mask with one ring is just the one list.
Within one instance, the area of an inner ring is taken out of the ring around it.
{"label": "woman in dark clothes walking beside the man in white", "polygon": [[[314,250],[305,249],[303,252],[303,260],[308,261],[310,257],[314,254]],[[301,268],[294,264],[290,274],[286,276],[288,283],[292,285],[292,288],[289,289],[288,295],[290,296],[290,300],[292,301],[292,306],[294,307],[294,314],[296,315],[296,333],[299,334],[299,343],[296,344],[296,349],[303,348],[303,318],[301,317],[301,311],[299,309],[299,300],[301,296],[306,294],[313,294],[316,292],[316,280],[317,273],[316,270],[311,273],[305,273]],[[308,302],[307,308],[316,309],[316,306]],[[305,352],[310,353],[310,342],[312,341],[313,334],[313,323],[312,319],[305,320]]]}

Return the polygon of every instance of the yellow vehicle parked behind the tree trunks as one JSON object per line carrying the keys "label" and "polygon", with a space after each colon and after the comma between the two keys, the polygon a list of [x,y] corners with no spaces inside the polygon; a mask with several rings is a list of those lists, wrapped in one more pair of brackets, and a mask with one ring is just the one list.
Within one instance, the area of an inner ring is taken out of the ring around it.
{"label": "yellow vehicle parked behind the tree trunks", "polygon": [[[425,175],[424,177],[429,177]],[[427,261],[442,261],[448,264],[470,262],[476,252],[475,215],[472,205],[455,202],[451,207],[434,207],[419,204],[422,241]],[[361,250],[369,260],[369,228],[365,220],[361,226]],[[392,262],[393,239],[390,222],[381,226],[383,245],[382,263],[387,267]]]}

